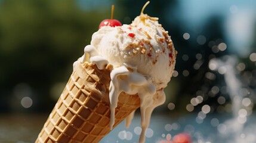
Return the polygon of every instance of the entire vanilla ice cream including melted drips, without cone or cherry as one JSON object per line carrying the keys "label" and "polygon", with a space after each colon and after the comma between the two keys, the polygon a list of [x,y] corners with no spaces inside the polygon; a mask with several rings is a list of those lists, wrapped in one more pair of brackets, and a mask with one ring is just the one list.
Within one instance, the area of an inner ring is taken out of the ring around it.
{"label": "entire vanilla ice cream including melted drips, without cone or cherry", "polygon": [[[90,62],[98,69],[111,65],[110,71],[110,129],[115,123],[115,108],[121,92],[137,94],[140,98],[141,135],[145,141],[146,129],[152,111],[165,102],[164,88],[174,71],[177,52],[168,32],[158,18],[141,13],[131,24],[104,26],[92,35],[91,45],[74,63]],[[131,123],[134,111],[127,117]]]}

